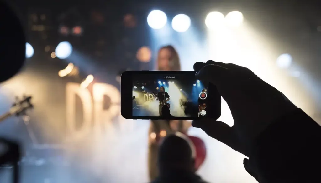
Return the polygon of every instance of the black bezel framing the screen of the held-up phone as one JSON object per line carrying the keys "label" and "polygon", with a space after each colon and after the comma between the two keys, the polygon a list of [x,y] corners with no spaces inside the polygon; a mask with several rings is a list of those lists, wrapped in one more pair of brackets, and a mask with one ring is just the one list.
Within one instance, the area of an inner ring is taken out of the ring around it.
{"label": "black bezel framing the screen of the held-up phone", "polygon": [[[158,74],[158,75],[186,75],[186,79],[195,79],[195,71],[125,71],[121,75],[120,82],[120,113],[125,119],[150,119],[150,120],[166,120],[159,116],[133,116],[133,100],[132,94],[127,91],[133,90],[133,75],[135,74]],[[211,98],[219,101],[215,103],[216,111],[211,111],[211,119],[218,119],[221,116],[221,95],[218,93],[214,85],[209,85]],[[199,117],[174,117],[171,120],[196,120]]]}

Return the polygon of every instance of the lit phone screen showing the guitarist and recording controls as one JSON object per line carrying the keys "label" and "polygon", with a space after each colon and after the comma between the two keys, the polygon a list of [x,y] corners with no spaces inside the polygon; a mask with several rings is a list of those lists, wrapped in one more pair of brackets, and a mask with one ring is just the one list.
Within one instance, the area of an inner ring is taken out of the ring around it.
{"label": "lit phone screen showing the guitarist and recording controls", "polygon": [[192,71],[177,73],[133,74],[132,115],[137,118],[207,117],[211,102],[208,82],[196,79]]}

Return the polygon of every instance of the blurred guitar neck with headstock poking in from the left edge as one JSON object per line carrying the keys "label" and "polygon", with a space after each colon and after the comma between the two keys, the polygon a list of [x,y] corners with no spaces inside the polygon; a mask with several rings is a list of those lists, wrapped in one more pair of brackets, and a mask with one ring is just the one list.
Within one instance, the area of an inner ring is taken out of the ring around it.
{"label": "blurred guitar neck with headstock poking in from the left edge", "polygon": [[30,103],[31,96],[24,96],[21,100],[16,98],[16,102],[11,106],[9,112],[0,116],[0,122],[4,121],[12,115],[24,115],[27,109],[33,108],[33,105]]}

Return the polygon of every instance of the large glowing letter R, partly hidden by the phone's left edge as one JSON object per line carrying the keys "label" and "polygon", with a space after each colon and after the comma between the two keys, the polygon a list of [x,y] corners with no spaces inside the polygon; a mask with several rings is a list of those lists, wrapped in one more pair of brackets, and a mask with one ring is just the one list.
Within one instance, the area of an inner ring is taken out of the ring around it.
{"label": "large glowing letter R, partly hidden by the phone's left edge", "polygon": [[[93,84],[92,95],[95,107],[95,134],[99,135],[101,133],[101,129],[103,129],[101,124],[105,125],[104,129],[106,132],[110,134],[114,133],[115,127],[112,125],[112,120],[120,113],[119,90],[111,84],[95,83]],[[103,109],[104,95],[110,98],[110,105],[107,110]]]}

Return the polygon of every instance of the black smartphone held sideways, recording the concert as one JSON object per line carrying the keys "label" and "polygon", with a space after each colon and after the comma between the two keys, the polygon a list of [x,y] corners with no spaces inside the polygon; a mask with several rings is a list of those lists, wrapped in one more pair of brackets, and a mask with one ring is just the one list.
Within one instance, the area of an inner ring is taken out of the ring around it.
{"label": "black smartphone held sideways, recording the concert", "polygon": [[120,107],[126,119],[218,119],[221,95],[195,71],[125,71]]}

